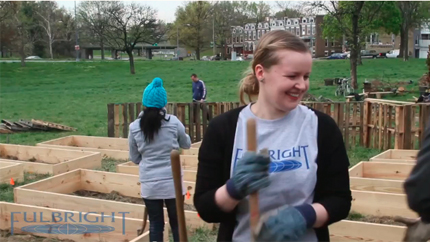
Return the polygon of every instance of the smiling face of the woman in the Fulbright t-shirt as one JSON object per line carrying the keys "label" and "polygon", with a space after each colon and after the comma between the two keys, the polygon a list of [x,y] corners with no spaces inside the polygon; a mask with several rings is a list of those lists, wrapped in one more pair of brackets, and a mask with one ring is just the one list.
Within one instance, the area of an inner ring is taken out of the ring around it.
{"label": "smiling face of the woman in the Fulbright t-shirt", "polygon": [[269,69],[256,66],[260,84],[260,98],[276,109],[289,112],[300,104],[309,89],[309,75],[312,70],[310,53],[300,53],[291,50],[281,50],[276,53],[279,62]]}

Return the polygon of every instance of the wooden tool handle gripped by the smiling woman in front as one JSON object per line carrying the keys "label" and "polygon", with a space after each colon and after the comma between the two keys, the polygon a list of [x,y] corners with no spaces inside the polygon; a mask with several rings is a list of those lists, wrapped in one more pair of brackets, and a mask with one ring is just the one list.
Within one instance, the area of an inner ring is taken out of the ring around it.
{"label": "wooden tool handle gripped by the smiling woman in front", "polygon": [[[246,133],[248,141],[248,151],[257,152],[257,123],[255,119],[248,119],[246,124]],[[255,241],[255,228],[260,219],[260,209],[258,204],[258,192],[249,195],[249,218],[251,225],[252,241]]]}

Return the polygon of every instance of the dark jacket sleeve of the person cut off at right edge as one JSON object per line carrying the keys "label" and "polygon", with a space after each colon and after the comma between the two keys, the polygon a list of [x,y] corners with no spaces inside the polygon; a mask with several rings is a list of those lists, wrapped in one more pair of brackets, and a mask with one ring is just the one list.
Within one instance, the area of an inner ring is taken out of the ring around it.
{"label": "dark jacket sleeve of the person cut off at right edge", "polygon": [[418,152],[417,163],[404,183],[409,207],[417,212],[421,220],[430,223],[430,127]]}

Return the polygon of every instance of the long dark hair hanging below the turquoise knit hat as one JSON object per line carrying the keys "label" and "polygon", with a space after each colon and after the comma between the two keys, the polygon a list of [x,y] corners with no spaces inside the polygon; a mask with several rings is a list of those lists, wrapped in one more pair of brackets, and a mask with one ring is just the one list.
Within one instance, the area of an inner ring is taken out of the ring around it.
{"label": "long dark hair hanging below the turquoise knit hat", "polygon": [[154,136],[161,128],[162,120],[170,120],[170,117],[166,119],[166,111],[164,109],[145,108],[140,118],[140,129],[145,136],[145,142],[151,143],[154,140]]}

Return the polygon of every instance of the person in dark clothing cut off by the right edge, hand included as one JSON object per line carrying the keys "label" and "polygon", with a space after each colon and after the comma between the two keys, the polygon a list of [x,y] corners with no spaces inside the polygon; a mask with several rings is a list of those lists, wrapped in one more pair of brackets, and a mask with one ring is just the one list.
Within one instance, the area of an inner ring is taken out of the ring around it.
{"label": "person in dark clothing cut off by the right edge, hand included", "polygon": [[430,123],[424,132],[422,146],[417,156],[417,163],[404,183],[409,208],[420,218],[397,217],[408,227],[404,241],[430,240]]}

